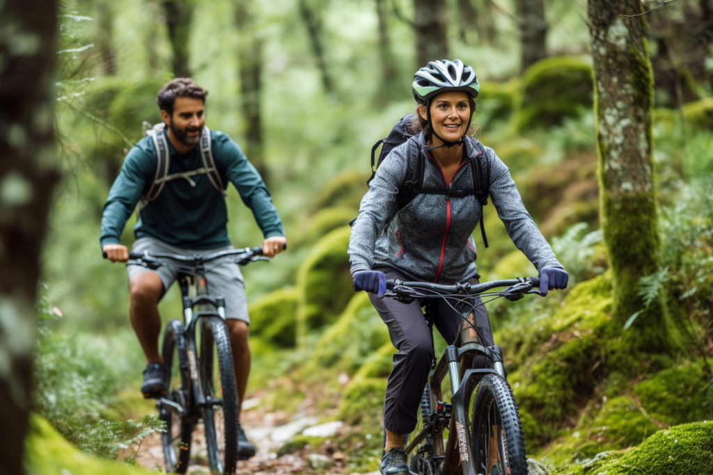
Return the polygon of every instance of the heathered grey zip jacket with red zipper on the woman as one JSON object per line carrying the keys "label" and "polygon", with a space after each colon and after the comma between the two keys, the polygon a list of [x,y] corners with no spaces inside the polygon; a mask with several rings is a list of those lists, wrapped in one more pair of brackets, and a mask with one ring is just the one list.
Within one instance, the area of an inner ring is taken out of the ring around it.
{"label": "heathered grey zip jacket with red zipper on the woman", "polygon": [[[424,154],[424,189],[472,189],[476,148],[466,141],[466,159],[451,183],[441,167],[424,150],[423,134],[391,150],[361,199],[359,215],[349,238],[349,262],[356,271],[390,267],[419,281],[451,284],[476,273],[476,244],[471,234],[483,208],[475,197],[418,194],[402,209],[396,195],[406,179],[409,153]],[[520,199],[508,167],[489,147],[490,197],[515,246],[538,271],[563,268]],[[515,276],[513,276],[515,277]]]}

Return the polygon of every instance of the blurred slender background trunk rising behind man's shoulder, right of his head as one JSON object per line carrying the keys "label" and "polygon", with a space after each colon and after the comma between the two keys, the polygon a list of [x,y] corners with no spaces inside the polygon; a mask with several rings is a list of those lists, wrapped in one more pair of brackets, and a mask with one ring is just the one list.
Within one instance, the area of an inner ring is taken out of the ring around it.
{"label": "blurred slender background trunk rising behind man's shoulder, right of his head", "polygon": [[240,34],[237,50],[240,65],[240,100],[245,120],[245,140],[247,140],[245,154],[267,183],[265,144],[262,140],[262,113],[260,111],[263,41],[255,28],[253,9],[252,0],[237,1],[235,25]]}

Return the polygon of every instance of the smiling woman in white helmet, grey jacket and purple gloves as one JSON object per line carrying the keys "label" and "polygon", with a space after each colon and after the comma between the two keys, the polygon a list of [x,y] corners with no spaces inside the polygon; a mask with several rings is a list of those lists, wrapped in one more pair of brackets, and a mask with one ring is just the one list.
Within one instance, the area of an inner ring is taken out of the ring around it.
{"label": "smiling woman in white helmet, grey jacket and purple gloves", "polygon": [[[354,290],[371,293],[371,303],[398,349],[386,385],[386,444],[380,467],[384,475],[409,475],[404,434],[416,427],[433,348],[421,311],[426,302],[406,304],[379,297],[386,291],[387,278],[443,284],[477,282],[471,233],[483,209],[472,195],[445,192],[475,188],[470,167],[476,159],[483,160],[483,153],[488,166],[481,169],[489,175],[493,205],[515,246],[538,269],[540,291],[546,295],[550,289],[567,286],[568,273],[523,206],[508,167],[491,148],[470,136],[479,89],[473,68],[457,59],[431,61],[416,72],[413,92],[419,105],[409,122],[414,137],[391,150],[379,166],[352,226],[349,261]],[[430,193],[417,193],[399,209],[397,194],[404,186],[407,164],[414,154],[424,154],[421,190]],[[475,303],[480,303],[479,299]],[[434,304],[434,324],[451,343],[456,339],[461,315],[442,299]],[[483,344],[493,345],[485,306],[477,306],[474,313]]]}

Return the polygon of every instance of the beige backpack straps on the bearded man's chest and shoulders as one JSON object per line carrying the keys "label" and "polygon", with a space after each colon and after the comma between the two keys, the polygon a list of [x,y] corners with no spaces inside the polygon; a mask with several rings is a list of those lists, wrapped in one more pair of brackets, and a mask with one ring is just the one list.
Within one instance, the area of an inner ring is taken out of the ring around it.
{"label": "beige backpack straps on the bearded man's chest and shoulders", "polygon": [[213,155],[210,150],[210,130],[208,130],[208,127],[203,127],[203,132],[201,133],[200,141],[198,142],[203,166],[195,170],[190,170],[189,172],[173,174],[168,174],[168,169],[170,167],[170,154],[168,153],[168,140],[166,140],[166,136],[163,133],[165,127],[166,125],[163,122],[159,122],[153,127],[150,123],[143,122],[143,132],[153,140],[153,146],[156,149],[158,160],[156,160],[156,174],[153,177],[153,182],[151,183],[148,192],[146,192],[145,196],[141,200],[141,207],[145,207],[150,202],[153,202],[154,199],[158,198],[158,195],[163,192],[163,187],[166,182],[183,178],[188,180],[190,186],[195,187],[195,182],[190,177],[195,177],[195,175],[199,174],[207,174],[210,184],[212,184],[217,192],[225,193],[220,173],[215,166],[215,161],[213,160]]}

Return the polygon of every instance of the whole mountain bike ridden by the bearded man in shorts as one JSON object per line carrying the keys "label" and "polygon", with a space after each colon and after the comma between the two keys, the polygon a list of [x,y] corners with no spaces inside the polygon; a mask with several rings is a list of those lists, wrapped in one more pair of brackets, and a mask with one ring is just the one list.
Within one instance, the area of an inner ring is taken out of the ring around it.
{"label": "whole mountain bike ridden by the bearded man in shorts", "polygon": [[[128,264],[157,269],[162,259],[178,267],[183,321],[171,320],[163,334],[161,356],[166,366],[167,392],[156,399],[167,473],[185,474],[190,460],[193,430],[202,421],[208,464],[214,474],[232,474],[237,460],[237,414],[240,401],[235,387],[232,351],[225,323],[225,298],[211,296],[205,264],[230,259],[241,266],[269,261],[262,246],[195,254],[130,253]],[[194,312],[195,310],[198,310]],[[198,343],[197,343],[198,342]],[[200,350],[198,350],[200,348]]]}

